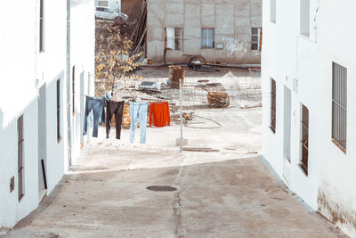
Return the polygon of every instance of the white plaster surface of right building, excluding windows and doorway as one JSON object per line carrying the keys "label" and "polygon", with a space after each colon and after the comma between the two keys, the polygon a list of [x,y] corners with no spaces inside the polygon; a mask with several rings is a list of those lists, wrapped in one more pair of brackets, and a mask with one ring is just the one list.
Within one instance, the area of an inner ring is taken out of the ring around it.
{"label": "white plaster surface of right building, excluding windows and doorway", "polygon": [[[277,0],[277,21],[270,21],[270,0],[263,1],[263,154],[286,184],[312,209],[344,232],[356,235],[356,116],[352,94],[356,56],[351,50],[356,23],[352,0],[311,0],[310,37],[300,35],[300,0]],[[317,11],[318,9],[318,11]],[[347,34],[346,34],[347,32]],[[348,35],[348,36],[347,36]],[[347,36],[347,37],[346,37]],[[332,62],[348,69],[347,153],[331,142]],[[277,129],[271,132],[270,78],[277,81]],[[298,90],[293,90],[293,80]],[[283,88],[292,91],[291,164],[283,159]],[[309,109],[308,176],[299,168],[300,105]],[[331,212],[330,212],[331,211]]]}

